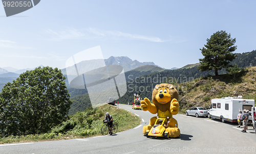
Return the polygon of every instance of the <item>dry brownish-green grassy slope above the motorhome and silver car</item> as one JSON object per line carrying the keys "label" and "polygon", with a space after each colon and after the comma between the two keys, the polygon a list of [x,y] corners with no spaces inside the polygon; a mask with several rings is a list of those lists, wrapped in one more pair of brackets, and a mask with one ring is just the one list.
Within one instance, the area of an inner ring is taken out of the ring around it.
{"label": "dry brownish-green grassy slope above the motorhome and silver car", "polygon": [[213,98],[243,96],[256,102],[256,67],[250,67],[234,75],[206,76],[194,83],[184,83],[183,92],[179,91],[180,112],[191,107],[209,107]]}

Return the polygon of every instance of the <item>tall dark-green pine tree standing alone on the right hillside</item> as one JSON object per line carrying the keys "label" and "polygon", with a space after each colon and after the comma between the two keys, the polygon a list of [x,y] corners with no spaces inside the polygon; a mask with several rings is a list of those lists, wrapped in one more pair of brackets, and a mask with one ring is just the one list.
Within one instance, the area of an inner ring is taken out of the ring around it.
{"label": "tall dark-green pine tree standing alone on the right hillside", "polygon": [[236,38],[232,39],[225,31],[218,31],[206,41],[205,47],[200,48],[204,58],[199,59],[201,65],[198,69],[200,71],[215,70],[215,75],[218,75],[218,70],[232,67],[230,62],[236,59],[236,54],[232,53],[237,49],[237,46],[234,46]]}

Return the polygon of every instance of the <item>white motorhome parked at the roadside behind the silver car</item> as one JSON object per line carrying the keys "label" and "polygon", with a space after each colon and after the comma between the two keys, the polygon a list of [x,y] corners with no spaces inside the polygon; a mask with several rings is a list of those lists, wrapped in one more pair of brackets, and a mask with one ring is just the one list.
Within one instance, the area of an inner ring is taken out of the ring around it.
{"label": "white motorhome parked at the roadside behind the silver car", "polygon": [[[211,105],[208,110],[208,118],[221,119],[222,122],[237,122],[237,115],[239,109],[242,111],[244,109],[249,110],[251,113],[251,108],[254,107],[253,99],[243,99],[242,96],[238,97],[223,97],[211,99]],[[242,115],[244,112],[242,112]],[[249,116],[251,120],[251,116]]]}

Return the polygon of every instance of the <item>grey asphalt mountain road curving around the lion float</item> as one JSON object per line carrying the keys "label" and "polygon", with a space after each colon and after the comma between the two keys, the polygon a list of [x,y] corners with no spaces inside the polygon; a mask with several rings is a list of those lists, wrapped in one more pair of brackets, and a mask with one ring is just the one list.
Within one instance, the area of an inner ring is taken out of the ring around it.
{"label": "grey asphalt mountain road curving around the lion float", "polygon": [[[141,118],[134,129],[116,135],[92,138],[0,145],[0,153],[255,153],[256,135],[253,127],[242,133],[237,123],[222,123],[206,117],[174,115],[179,124],[178,138],[146,138],[144,121],[155,116],[150,112],[119,105]],[[115,118],[115,117],[113,117]]]}

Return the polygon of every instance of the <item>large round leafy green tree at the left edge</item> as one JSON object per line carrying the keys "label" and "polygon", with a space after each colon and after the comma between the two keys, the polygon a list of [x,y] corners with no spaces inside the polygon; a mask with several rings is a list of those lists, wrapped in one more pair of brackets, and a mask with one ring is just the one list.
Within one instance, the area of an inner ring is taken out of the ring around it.
{"label": "large round leafy green tree at the left edge", "polygon": [[7,83],[0,93],[0,135],[46,133],[68,115],[65,76],[52,67],[38,67]]}

